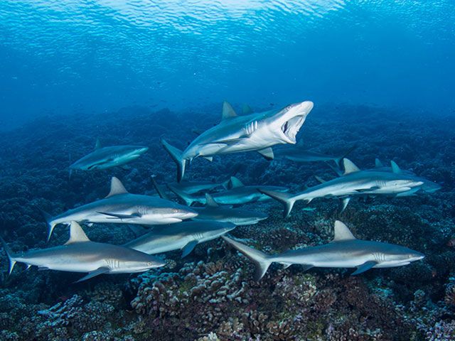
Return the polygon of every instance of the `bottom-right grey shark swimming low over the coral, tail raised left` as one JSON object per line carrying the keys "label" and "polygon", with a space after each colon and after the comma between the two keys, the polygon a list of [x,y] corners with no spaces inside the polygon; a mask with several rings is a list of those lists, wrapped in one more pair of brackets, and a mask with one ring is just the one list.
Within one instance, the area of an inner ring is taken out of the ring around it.
{"label": "bottom-right grey shark swimming low over the coral, tail raised left", "polygon": [[348,227],[338,220],[335,222],[335,237],[332,242],[283,254],[264,254],[228,237],[222,238],[255,263],[256,281],[264,276],[272,263],[284,264],[286,268],[300,264],[304,266],[304,271],[313,267],[357,268],[352,275],[358,275],[373,268],[405,266],[424,258],[424,254],[407,247],[356,239]]}

